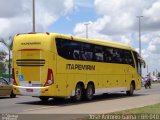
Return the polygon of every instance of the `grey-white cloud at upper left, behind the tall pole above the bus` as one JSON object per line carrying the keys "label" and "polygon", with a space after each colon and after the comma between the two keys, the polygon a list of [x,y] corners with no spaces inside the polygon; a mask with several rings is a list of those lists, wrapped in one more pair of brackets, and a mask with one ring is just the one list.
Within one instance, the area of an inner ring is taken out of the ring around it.
{"label": "grey-white cloud at upper left, behind the tall pole above the bus", "polygon": [[[73,0],[35,0],[36,31],[44,32],[73,10]],[[0,37],[32,31],[32,0],[1,0]]]}

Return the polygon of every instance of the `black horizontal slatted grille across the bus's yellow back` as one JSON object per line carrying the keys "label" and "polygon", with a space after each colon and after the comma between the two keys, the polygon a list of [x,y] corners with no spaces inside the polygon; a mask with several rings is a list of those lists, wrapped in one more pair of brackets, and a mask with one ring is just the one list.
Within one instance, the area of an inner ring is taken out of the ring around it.
{"label": "black horizontal slatted grille across the bus's yellow back", "polygon": [[21,59],[16,60],[18,66],[44,66],[45,60],[40,59]]}

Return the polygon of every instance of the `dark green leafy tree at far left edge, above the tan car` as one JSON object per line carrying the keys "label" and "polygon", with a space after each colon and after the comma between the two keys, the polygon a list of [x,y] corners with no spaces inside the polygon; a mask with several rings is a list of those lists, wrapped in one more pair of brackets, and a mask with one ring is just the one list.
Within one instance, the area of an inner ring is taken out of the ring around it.
{"label": "dark green leafy tree at far left edge, above the tan car", "polygon": [[4,59],[6,55],[7,55],[6,52],[0,51],[0,77],[5,72]]}

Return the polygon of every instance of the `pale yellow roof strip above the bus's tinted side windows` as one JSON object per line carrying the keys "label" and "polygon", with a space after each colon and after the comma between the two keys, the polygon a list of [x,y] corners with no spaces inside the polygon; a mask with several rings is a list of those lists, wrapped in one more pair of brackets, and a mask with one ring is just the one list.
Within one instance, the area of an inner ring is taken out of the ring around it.
{"label": "pale yellow roof strip above the bus's tinted side windows", "polygon": [[58,33],[51,33],[51,35],[54,35],[55,37],[59,37],[59,38],[66,38],[66,39],[82,41],[82,42],[86,42],[86,43],[93,43],[93,44],[98,44],[98,45],[103,45],[103,46],[108,46],[108,47],[115,47],[115,48],[121,48],[121,49],[136,51],[130,45],[117,43],[117,42],[111,42],[111,41],[107,41],[107,40],[86,39],[86,38],[80,38],[80,37],[76,37],[76,36],[64,35],[64,34],[58,34]]}

